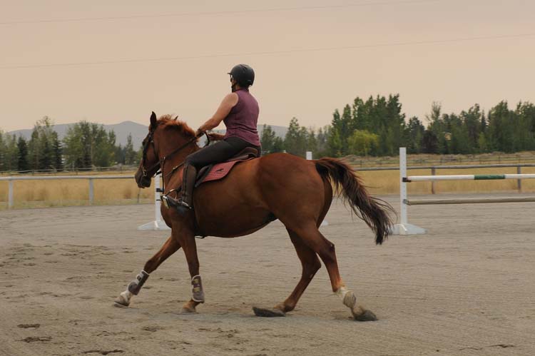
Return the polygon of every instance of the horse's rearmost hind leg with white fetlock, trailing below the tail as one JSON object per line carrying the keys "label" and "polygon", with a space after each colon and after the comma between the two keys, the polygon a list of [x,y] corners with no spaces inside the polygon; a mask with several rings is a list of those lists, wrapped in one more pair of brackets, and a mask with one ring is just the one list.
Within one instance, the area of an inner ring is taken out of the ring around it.
{"label": "horse's rearmost hind leg with white fetlock, trailing below the tail", "polygon": [[332,291],[342,298],[345,306],[349,307],[355,320],[377,320],[374,313],[357,305],[355,294],[345,287],[340,278],[338,262],[336,259],[335,245],[327,240],[316,225],[309,224],[305,228],[296,229],[297,235],[308,247],[317,253],[325,264],[331,281]]}

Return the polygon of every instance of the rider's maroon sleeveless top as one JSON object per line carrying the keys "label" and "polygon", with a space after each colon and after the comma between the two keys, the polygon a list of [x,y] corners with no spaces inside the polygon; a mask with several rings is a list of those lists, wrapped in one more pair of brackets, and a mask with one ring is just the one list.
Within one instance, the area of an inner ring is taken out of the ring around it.
{"label": "rider's maroon sleeveless top", "polygon": [[235,93],[238,94],[238,103],[223,119],[225,126],[227,126],[225,138],[238,137],[254,146],[260,146],[260,138],[258,138],[258,131],[256,131],[260,111],[258,102],[248,89],[240,89]]}

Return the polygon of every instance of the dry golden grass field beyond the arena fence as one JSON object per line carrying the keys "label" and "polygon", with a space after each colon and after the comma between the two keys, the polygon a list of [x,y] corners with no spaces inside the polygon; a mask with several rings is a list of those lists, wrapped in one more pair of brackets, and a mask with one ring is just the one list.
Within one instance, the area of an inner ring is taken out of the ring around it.
{"label": "dry golden grass field beyond the arena fence", "polygon": [[[357,168],[358,169],[358,168]],[[124,174],[124,172],[121,172]],[[478,168],[437,170],[440,175],[516,173],[516,168]],[[535,167],[522,168],[522,173],[535,173]],[[113,173],[106,173],[113,174]],[[131,175],[126,173],[126,175]],[[430,175],[429,169],[411,170],[411,176]],[[399,171],[361,171],[365,185],[372,194],[398,194]],[[153,188],[139,189],[132,178],[124,180],[93,180],[95,205],[150,203]],[[409,194],[431,193],[430,182],[410,183]],[[440,193],[516,192],[516,180],[458,180],[435,183]],[[535,180],[522,180],[522,191],[534,193]],[[88,180],[19,180],[14,182],[15,208],[88,205]],[[8,182],[0,181],[0,210],[7,208]]]}

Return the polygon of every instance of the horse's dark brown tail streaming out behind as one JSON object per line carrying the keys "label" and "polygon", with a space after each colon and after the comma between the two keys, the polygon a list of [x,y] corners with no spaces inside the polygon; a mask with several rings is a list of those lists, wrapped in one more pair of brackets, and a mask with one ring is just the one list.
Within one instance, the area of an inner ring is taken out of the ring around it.
{"label": "horse's dark brown tail streaming out behind", "polygon": [[352,212],[374,231],[375,243],[382,244],[392,226],[388,212],[395,214],[394,208],[384,200],[370,196],[361,178],[347,163],[336,158],[321,158],[315,164],[322,179],[333,183],[337,193],[343,193],[345,201],[350,203]]}

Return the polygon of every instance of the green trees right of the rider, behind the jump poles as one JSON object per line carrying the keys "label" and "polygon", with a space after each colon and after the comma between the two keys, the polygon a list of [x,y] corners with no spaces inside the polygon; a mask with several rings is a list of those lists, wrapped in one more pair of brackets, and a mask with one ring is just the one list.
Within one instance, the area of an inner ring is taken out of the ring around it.
{"label": "green trees right of the rider, behind the jump poles", "polygon": [[[426,125],[424,125],[424,123]],[[285,138],[264,126],[264,153],[282,152],[315,157],[397,156],[399,147],[409,153],[471,154],[535,151],[535,106],[520,102],[509,108],[499,102],[488,113],[478,104],[460,113],[442,113],[433,103],[424,120],[406,120],[399,95],[355,98],[342,111],[335,110],[330,125],[315,129],[290,120]]]}

